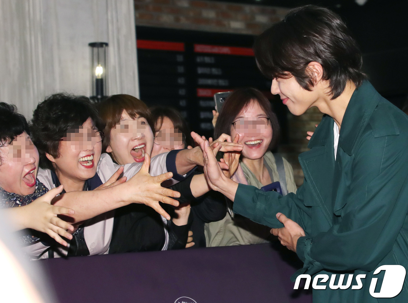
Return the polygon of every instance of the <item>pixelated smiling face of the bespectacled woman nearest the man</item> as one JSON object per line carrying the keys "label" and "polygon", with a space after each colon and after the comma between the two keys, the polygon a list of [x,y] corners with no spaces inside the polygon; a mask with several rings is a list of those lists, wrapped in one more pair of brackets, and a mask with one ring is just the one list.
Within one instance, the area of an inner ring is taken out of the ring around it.
{"label": "pixelated smiling face of the bespectacled woman nearest the man", "polygon": [[254,100],[235,117],[234,126],[231,125],[231,137],[239,134],[239,142],[244,144],[242,157],[260,159],[268,150],[272,140],[272,126],[267,117],[259,103]]}

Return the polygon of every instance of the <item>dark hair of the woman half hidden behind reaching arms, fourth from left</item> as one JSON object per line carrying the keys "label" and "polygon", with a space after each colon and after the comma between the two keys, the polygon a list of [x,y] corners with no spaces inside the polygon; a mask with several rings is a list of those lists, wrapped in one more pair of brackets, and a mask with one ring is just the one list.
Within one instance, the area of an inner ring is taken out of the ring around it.
{"label": "dark hair of the woman half hidden behind reaching arms, fourth from left", "polygon": [[186,120],[184,120],[178,110],[168,106],[153,106],[150,108],[150,111],[156,131],[160,130],[164,117],[167,117],[173,123],[174,128],[178,128],[186,136],[185,146],[194,146],[193,138],[190,135],[190,128],[188,128]]}

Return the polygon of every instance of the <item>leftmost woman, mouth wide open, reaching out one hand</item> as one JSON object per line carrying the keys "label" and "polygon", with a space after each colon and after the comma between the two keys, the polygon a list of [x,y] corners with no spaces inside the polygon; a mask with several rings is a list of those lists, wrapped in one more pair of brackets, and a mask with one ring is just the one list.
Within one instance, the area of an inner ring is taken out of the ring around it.
{"label": "leftmost woman, mouth wide open, reaching out one hand", "polygon": [[[13,223],[13,229],[27,234],[20,244],[29,246],[40,241],[42,233],[67,245],[72,238],[66,230],[73,226],[57,215],[73,214],[72,209],[53,206],[51,200],[62,191],[62,186],[48,191],[37,178],[38,151],[30,138],[28,123],[15,105],[0,102],[0,207]],[[30,231],[29,229],[35,229]],[[40,231],[40,233],[36,232]],[[27,250],[27,249],[26,249]]]}

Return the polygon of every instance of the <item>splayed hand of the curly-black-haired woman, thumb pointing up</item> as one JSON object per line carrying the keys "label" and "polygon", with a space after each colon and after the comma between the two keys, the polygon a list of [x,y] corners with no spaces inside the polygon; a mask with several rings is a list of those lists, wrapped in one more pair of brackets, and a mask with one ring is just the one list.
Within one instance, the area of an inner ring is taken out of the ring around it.
{"label": "splayed hand of the curly-black-haired woman, thumb pointing up", "polygon": [[[150,156],[145,154],[144,162],[140,171],[137,172],[129,181],[121,184],[130,196],[127,201],[133,203],[146,204],[153,208],[157,213],[160,213],[164,218],[170,220],[170,215],[162,209],[159,202],[170,204],[173,206],[178,206],[179,202],[169,197],[180,198],[180,193],[178,191],[173,191],[171,189],[166,189],[160,184],[173,177],[173,173],[164,173],[152,177],[149,175],[150,166]],[[126,195],[125,195],[126,196]]]}

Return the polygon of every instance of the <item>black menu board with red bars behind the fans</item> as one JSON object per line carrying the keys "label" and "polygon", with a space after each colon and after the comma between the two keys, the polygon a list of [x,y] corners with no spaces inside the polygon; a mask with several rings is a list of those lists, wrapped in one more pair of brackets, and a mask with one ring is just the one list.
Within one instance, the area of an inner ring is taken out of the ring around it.
{"label": "black menu board with red bars behind the fans", "polygon": [[253,38],[137,27],[140,99],[149,106],[177,108],[192,130],[212,136],[213,95],[254,87],[273,101],[277,114],[283,110],[278,116],[284,126],[286,108],[279,107],[280,100],[274,102],[271,81],[256,66],[251,48]]}

